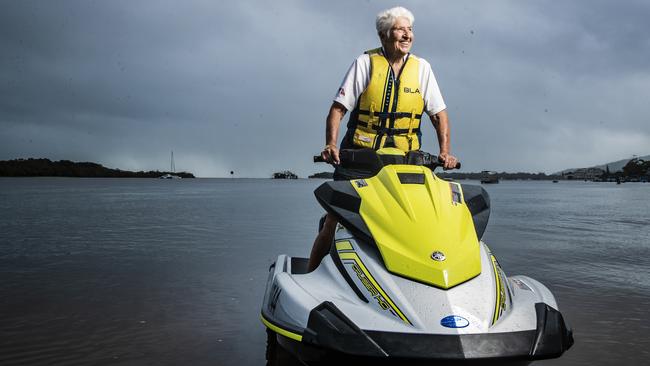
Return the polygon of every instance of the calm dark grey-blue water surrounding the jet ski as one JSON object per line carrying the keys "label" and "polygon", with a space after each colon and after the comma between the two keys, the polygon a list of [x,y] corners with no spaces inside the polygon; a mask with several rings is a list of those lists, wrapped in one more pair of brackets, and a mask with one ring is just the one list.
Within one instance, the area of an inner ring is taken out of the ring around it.
{"label": "calm dark grey-blue water surrounding the jet ski", "polygon": [[[0,179],[0,365],[263,365],[267,270],[308,255],[322,182]],[[485,188],[485,241],[574,328],[536,364],[645,364],[650,184]]]}

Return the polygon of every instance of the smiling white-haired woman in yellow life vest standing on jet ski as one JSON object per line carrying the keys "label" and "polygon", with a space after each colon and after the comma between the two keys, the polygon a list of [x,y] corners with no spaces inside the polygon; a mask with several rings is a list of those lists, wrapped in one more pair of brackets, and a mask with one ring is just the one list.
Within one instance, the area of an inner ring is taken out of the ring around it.
{"label": "smiling white-haired woman in yellow life vest standing on jet ski", "polygon": [[[351,110],[342,149],[396,147],[405,152],[420,149],[420,118],[426,112],[433,122],[445,168],[457,160],[449,153],[449,121],[445,102],[431,65],[410,53],[413,14],[395,7],[377,15],[381,47],[357,57],[348,70],[327,116],[326,145],[321,156],[334,164],[335,180],[362,178],[363,172],[339,165],[336,147],[339,124]],[[314,270],[329,251],[336,220],[328,215],[309,258]]]}

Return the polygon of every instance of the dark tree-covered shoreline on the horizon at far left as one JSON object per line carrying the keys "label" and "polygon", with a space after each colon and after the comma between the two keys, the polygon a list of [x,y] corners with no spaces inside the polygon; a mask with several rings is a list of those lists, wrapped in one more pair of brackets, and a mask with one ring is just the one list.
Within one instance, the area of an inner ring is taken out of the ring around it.
{"label": "dark tree-covered shoreline on the horizon at far left", "polygon": [[132,172],[111,169],[91,162],[49,159],[14,159],[0,161],[0,177],[69,177],[69,178],[160,178],[172,174],[181,178],[195,178],[188,172],[160,172],[157,170]]}

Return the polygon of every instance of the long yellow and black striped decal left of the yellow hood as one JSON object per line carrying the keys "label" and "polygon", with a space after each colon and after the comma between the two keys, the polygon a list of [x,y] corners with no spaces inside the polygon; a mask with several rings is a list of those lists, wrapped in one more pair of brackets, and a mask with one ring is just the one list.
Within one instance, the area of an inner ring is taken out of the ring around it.
{"label": "long yellow and black striped decal left of the yellow hood", "polygon": [[363,287],[368,291],[379,307],[387,310],[393,316],[401,319],[408,325],[413,325],[404,313],[395,305],[393,300],[388,296],[379,283],[372,276],[368,268],[363,264],[359,255],[354,251],[352,244],[349,241],[340,241],[336,243],[336,250],[338,251],[339,258],[346,265],[351,265],[352,271],[356,274]]}

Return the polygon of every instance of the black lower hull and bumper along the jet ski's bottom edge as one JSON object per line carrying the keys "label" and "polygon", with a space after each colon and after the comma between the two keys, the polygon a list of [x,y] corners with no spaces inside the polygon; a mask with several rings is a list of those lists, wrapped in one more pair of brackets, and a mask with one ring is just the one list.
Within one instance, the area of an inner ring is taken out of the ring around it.
{"label": "black lower hull and bumper along the jet ski's bottom edge", "polygon": [[[336,360],[373,364],[417,364],[435,360],[527,364],[534,360],[559,357],[573,344],[572,331],[562,314],[543,302],[532,304],[530,309],[535,316],[536,327],[520,331],[436,334],[361,329],[331,301],[323,301],[309,311],[306,325],[301,327],[286,320],[291,311],[278,310],[284,290],[278,287],[281,285],[275,283],[274,279],[280,273],[306,275],[301,274],[300,269],[294,274],[290,273],[292,262],[294,266],[302,266],[306,258],[281,256],[278,261],[281,263],[276,262],[271,268],[262,321],[271,334],[276,335],[280,347],[309,364]],[[276,267],[284,272],[275,273]],[[275,315],[276,312],[278,315]]]}

